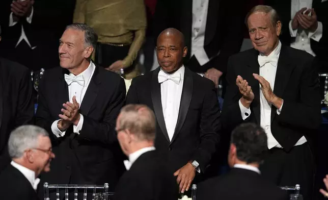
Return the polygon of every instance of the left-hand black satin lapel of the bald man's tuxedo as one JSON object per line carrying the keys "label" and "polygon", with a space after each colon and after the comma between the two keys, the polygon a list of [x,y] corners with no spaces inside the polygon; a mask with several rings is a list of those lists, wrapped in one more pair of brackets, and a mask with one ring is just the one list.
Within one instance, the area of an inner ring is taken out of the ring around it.
{"label": "left-hand black satin lapel of the bald man's tuxedo", "polygon": [[165,138],[170,142],[169,134],[166,129],[163,108],[161,103],[161,95],[160,95],[160,84],[158,83],[158,72],[160,67],[154,70],[152,80],[151,80],[151,99],[154,107],[155,116]]}

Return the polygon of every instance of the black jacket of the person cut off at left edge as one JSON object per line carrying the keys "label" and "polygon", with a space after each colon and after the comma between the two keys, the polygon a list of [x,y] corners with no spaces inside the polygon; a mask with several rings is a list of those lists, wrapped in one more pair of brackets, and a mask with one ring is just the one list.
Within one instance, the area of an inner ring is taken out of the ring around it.
{"label": "black jacket of the person cut off at left edge", "polygon": [[32,91],[28,68],[0,58],[0,172],[10,163],[7,143],[11,131],[34,123]]}

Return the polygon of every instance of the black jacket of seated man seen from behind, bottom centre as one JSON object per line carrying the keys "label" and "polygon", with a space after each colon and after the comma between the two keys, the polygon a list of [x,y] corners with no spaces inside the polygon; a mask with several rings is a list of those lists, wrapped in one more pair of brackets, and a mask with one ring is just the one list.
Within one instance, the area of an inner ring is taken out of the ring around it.
{"label": "black jacket of seated man seen from behind, bottom centre", "polygon": [[156,151],[142,154],[121,177],[115,200],[176,200],[179,188],[173,173]]}

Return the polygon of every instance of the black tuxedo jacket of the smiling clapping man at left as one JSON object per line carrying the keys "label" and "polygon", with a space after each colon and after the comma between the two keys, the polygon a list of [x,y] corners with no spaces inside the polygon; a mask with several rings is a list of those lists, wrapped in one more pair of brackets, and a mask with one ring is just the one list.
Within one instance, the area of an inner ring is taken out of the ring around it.
{"label": "black tuxedo jacket of the smiling clapping man at left", "polygon": [[86,90],[79,113],[84,116],[79,134],[73,133],[73,124],[63,137],[51,131],[53,121],[59,119],[63,103],[69,101],[64,79],[67,69],[46,70],[39,87],[39,105],[36,124],[49,132],[53,153],[51,171],[42,174],[42,180],[57,184],[110,184],[110,190],[119,176],[121,151],[117,142],[115,123],[124,105],[124,80],[116,73],[96,66]]}

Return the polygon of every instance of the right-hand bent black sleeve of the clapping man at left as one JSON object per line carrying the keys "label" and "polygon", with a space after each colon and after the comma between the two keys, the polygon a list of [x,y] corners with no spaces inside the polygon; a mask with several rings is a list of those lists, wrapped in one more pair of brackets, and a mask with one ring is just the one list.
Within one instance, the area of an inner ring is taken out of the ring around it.
{"label": "right-hand bent black sleeve of the clapping man at left", "polygon": [[126,94],[124,80],[120,78],[118,81],[119,84],[114,89],[111,101],[107,104],[103,119],[97,121],[84,116],[83,127],[78,137],[105,144],[117,141],[115,131],[116,118],[124,106]]}

